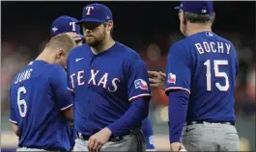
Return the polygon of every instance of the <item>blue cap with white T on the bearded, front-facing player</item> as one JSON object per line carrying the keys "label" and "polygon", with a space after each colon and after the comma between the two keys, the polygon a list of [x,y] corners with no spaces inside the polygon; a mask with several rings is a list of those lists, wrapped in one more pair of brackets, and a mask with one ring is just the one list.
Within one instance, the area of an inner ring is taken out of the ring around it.
{"label": "blue cap with white T on the bearded, front-facing player", "polygon": [[102,4],[89,4],[83,8],[82,19],[77,21],[76,24],[82,22],[104,23],[112,19],[112,13],[108,7]]}

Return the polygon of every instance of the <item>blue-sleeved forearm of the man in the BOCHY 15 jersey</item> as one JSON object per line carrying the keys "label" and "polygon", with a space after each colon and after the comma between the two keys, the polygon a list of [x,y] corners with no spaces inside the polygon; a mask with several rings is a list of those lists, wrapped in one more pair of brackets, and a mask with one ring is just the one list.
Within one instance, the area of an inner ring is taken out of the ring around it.
{"label": "blue-sleeved forearm of the man in the BOCHY 15 jersey", "polygon": [[184,90],[169,93],[169,139],[170,143],[180,142],[188,103],[188,93]]}

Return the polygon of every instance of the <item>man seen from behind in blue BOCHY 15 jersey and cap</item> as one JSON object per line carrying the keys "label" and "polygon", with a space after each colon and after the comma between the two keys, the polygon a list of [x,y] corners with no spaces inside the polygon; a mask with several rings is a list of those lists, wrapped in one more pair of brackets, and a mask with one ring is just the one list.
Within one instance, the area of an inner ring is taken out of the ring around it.
{"label": "man seen from behind in blue BOCHY 15 jersey and cap", "polygon": [[187,151],[239,151],[236,49],[212,32],[212,1],[183,1],[176,9],[186,38],[170,48],[167,59],[170,148],[178,151],[184,144]]}

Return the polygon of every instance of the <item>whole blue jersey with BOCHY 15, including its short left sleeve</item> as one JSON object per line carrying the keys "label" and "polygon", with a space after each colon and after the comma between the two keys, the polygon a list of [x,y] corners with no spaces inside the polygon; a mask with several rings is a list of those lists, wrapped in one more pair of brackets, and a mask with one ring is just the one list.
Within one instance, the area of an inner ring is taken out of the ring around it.
{"label": "whole blue jersey with BOCHY 15, including its short left sleeve", "polygon": [[186,121],[234,122],[237,73],[232,42],[212,32],[197,33],[170,48],[166,91],[190,93]]}

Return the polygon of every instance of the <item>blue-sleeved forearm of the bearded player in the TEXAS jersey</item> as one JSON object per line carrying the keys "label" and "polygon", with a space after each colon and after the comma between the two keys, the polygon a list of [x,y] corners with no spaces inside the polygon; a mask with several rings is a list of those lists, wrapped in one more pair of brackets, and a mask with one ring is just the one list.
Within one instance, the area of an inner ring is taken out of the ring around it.
{"label": "blue-sleeved forearm of the bearded player in the TEXAS jersey", "polygon": [[108,126],[113,137],[121,136],[129,130],[139,127],[142,120],[149,114],[149,99],[139,98],[132,101],[128,112]]}

